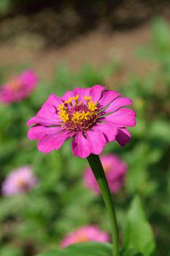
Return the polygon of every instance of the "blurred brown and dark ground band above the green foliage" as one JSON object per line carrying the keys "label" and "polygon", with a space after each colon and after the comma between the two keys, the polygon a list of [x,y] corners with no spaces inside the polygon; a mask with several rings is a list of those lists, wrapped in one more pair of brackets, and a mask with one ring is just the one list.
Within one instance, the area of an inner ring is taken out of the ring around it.
{"label": "blurred brown and dark ground band above the green foliage", "polygon": [[169,19],[169,1],[110,1],[110,10],[102,10],[103,1],[95,2],[99,5],[87,5],[87,10],[77,1],[72,7],[64,5],[60,12],[42,8],[25,13],[23,8],[1,19],[0,65],[29,63],[41,78],[50,78],[61,62],[77,70],[84,63],[101,67],[117,60],[122,67],[111,83],[125,83],[131,72],[144,75],[152,69],[139,62],[134,51],[150,42],[149,23],[154,15]]}

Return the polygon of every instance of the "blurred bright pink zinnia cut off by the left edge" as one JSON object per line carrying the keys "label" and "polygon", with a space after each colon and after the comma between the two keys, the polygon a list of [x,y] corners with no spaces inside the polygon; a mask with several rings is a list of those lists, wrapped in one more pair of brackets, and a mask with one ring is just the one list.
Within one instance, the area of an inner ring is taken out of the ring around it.
{"label": "blurred bright pink zinnia cut off by the left edge", "polygon": [[31,70],[26,70],[16,76],[0,88],[0,101],[4,104],[18,102],[33,91],[37,83],[36,74]]}

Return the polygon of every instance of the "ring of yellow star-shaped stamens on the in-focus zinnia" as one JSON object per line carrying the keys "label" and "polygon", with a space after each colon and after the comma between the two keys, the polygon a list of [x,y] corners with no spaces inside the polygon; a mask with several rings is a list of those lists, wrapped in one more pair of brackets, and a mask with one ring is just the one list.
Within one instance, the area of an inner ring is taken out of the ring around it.
{"label": "ring of yellow star-shaped stamens on the in-focus zinnia", "polygon": [[[85,111],[85,110],[76,111],[75,113],[72,113],[72,118],[69,118],[68,105],[70,105],[71,108],[82,105],[82,101],[78,102],[79,95],[76,95],[75,97],[71,97],[67,99],[65,102],[63,102],[61,105],[59,105],[59,107],[57,108],[58,116],[61,118],[61,121],[63,122],[63,124],[65,124],[66,121],[72,121],[73,124],[82,125],[83,121],[88,121],[90,120],[90,118],[93,118],[93,116],[96,116],[95,110],[98,109],[96,107],[97,102],[93,102],[91,98],[92,97],[87,97],[86,95],[85,97],[83,97],[83,99],[85,99],[86,101],[86,106],[88,108],[88,111]],[[72,102],[73,100],[74,100],[74,104]]]}

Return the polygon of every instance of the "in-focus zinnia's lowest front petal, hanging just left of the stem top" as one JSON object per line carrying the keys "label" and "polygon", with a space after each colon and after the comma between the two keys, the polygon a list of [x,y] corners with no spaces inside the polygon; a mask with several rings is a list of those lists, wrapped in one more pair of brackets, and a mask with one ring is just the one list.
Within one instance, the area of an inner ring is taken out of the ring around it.
{"label": "in-focus zinnia's lowest front petal, hanging just left of the stem top", "polygon": [[88,157],[90,155],[90,145],[88,140],[82,135],[82,132],[78,132],[74,140],[72,140],[72,153],[75,157]]}

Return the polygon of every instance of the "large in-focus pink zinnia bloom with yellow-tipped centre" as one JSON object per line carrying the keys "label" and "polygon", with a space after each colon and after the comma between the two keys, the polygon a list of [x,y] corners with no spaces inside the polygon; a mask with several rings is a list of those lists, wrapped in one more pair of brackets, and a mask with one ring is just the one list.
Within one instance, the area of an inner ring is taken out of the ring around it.
{"label": "large in-focus pink zinnia bloom with yellow-tipped centre", "polygon": [[103,86],[88,89],[76,88],[59,98],[51,94],[35,117],[28,131],[30,140],[39,140],[39,151],[58,150],[65,140],[73,138],[75,157],[101,154],[108,142],[117,140],[121,146],[130,140],[125,127],[134,127],[134,110],[123,108],[131,99]]}

